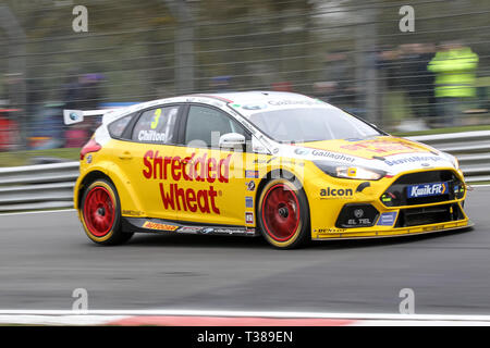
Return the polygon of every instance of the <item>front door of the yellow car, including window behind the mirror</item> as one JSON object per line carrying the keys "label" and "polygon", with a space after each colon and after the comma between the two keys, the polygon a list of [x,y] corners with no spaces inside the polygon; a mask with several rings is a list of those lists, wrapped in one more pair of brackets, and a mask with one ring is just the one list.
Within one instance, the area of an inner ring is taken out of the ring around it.
{"label": "front door of the yellow car, including window behind the mirror", "polygon": [[245,178],[243,150],[220,149],[219,137],[240,133],[243,126],[224,111],[189,104],[182,123],[182,147],[175,158],[181,174],[169,196],[175,200],[181,221],[200,224],[245,225]]}

